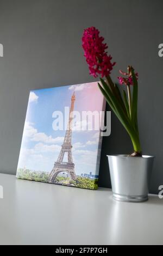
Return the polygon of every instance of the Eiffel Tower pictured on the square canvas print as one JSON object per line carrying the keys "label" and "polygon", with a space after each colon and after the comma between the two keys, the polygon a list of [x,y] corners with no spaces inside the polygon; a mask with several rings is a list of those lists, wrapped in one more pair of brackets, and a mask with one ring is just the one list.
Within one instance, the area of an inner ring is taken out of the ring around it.
{"label": "Eiffel Tower pictured on the square canvas print", "polygon": [[[73,109],[74,109],[74,101],[76,100],[76,96],[73,92],[73,95],[71,97],[71,107],[70,107],[70,113],[69,113],[69,120],[67,124],[67,130],[66,135],[64,139],[64,143],[61,146],[61,151],[58,157],[57,162],[54,163],[54,167],[52,169],[52,172],[49,175],[49,183],[55,183],[55,179],[57,175],[61,172],[66,172],[70,174],[72,180],[76,180],[76,173],[74,171],[74,163],[72,160],[72,120],[73,120]],[[68,155],[68,161],[63,162],[64,155],[67,153]]]}

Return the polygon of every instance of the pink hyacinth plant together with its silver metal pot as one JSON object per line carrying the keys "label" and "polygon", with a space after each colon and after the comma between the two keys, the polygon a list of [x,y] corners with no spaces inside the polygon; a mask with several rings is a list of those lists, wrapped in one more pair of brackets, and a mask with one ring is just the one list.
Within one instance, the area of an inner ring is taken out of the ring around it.
{"label": "pink hyacinth plant together with its silver metal pot", "polygon": [[154,157],[142,155],[141,150],[137,124],[138,74],[133,66],[128,66],[127,72],[120,70],[118,80],[124,85],[124,89],[120,90],[110,77],[116,63],[111,62],[112,57],[106,52],[108,46],[103,41],[98,29],[85,29],[82,38],[84,56],[90,75],[100,77],[98,87],[128,132],[134,149],[130,155],[108,156],[113,197],[121,201],[143,202],[148,200]]}

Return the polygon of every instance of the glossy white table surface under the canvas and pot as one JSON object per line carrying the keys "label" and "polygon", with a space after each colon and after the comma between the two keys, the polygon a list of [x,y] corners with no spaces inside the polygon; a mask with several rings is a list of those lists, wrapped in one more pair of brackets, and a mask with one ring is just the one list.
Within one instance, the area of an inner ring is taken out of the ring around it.
{"label": "glossy white table surface under the canvas and pot", "polygon": [[163,199],[112,199],[97,191],[18,180],[0,174],[1,245],[163,244]]}

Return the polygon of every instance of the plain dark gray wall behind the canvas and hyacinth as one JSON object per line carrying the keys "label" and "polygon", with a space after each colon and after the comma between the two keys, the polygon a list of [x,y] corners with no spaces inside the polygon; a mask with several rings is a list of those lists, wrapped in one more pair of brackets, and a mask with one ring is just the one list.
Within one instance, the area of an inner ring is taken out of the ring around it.
{"label": "plain dark gray wall behind the canvas and hyacinth", "polygon": [[[94,81],[83,57],[83,29],[105,37],[118,70],[139,72],[139,125],[144,154],[155,155],[151,192],[163,184],[162,0],[0,0],[0,170],[16,173],[30,89]],[[106,154],[130,153],[126,131],[112,114],[104,138],[99,185],[110,186]]]}

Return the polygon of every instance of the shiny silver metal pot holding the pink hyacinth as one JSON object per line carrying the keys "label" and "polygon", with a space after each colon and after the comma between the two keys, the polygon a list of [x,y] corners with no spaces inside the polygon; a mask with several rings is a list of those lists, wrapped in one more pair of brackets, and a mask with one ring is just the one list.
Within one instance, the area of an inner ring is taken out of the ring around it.
{"label": "shiny silver metal pot holding the pink hyacinth", "polygon": [[148,200],[154,156],[108,156],[113,197],[119,201]]}

